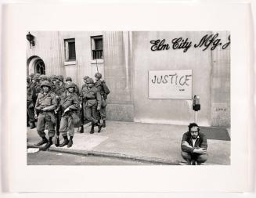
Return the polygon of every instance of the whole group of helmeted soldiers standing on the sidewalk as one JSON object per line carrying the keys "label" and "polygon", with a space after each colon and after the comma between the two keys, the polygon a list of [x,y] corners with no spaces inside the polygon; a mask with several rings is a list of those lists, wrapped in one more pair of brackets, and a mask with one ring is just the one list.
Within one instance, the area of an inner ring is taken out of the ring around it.
{"label": "whole group of helmeted soldiers standing on the sidewalk", "polygon": [[[56,135],[56,146],[71,147],[73,145],[74,128],[80,127],[84,132],[84,124],[92,123],[90,133],[94,128],[106,128],[106,99],[110,94],[102,74],[92,78],[83,77],[84,85],[79,92],[78,86],[71,77],[52,75],[47,77],[40,74],[30,74],[27,77],[27,126],[37,128],[41,142],[36,146],[47,150],[52,146],[52,138]],[[37,126],[35,126],[37,121]],[[46,138],[48,130],[49,139]],[[63,142],[59,144],[59,133]]]}

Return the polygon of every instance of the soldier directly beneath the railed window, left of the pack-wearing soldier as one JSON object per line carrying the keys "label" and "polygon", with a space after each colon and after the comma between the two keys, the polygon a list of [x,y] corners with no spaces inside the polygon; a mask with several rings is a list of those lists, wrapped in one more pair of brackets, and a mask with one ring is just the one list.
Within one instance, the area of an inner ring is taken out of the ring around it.
{"label": "soldier directly beneath the railed window, left of the pack-wearing soldier", "polygon": [[92,122],[92,128],[90,133],[94,133],[94,127],[98,126],[100,132],[102,124],[97,120],[97,111],[101,107],[101,96],[92,78],[87,80],[88,90],[82,93],[82,99],[85,101],[85,119]]}

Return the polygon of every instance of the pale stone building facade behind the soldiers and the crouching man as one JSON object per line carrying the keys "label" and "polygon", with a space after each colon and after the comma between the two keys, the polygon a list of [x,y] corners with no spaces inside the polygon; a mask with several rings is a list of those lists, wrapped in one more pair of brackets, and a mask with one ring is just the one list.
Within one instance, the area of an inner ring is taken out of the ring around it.
{"label": "pale stone building facade behind the soldiers and the crouching man", "polygon": [[[110,88],[106,107],[109,120],[189,124],[194,121],[193,95],[199,95],[198,123],[230,127],[227,31],[31,31],[31,34],[34,46],[27,42],[27,74],[62,74],[72,77],[81,88],[82,77],[94,77],[99,71]],[[190,99],[150,98],[149,72],[156,70],[192,70]]]}

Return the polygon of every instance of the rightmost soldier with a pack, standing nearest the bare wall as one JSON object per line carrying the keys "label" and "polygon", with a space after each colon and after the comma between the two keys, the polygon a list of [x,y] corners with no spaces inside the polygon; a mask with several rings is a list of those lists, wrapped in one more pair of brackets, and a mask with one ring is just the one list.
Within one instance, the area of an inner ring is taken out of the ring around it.
{"label": "rightmost soldier with a pack, standing nearest the bare wall", "polygon": [[105,81],[101,81],[100,79],[102,78],[102,74],[100,73],[96,73],[95,74],[95,78],[96,78],[96,88],[98,88],[99,93],[101,95],[101,99],[102,99],[102,106],[100,109],[100,116],[101,119],[103,120],[103,128],[106,128],[106,99],[107,99],[107,95],[110,94],[110,89],[106,86]]}

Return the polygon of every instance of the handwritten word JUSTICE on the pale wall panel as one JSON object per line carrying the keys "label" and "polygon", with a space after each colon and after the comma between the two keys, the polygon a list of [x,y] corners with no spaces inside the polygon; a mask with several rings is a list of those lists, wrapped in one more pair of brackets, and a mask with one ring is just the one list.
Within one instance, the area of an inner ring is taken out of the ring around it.
{"label": "handwritten word JUSTICE on the pale wall panel", "polygon": [[169,74],[169,75],[154,75],[151,80],[153,84],[171,84],[171,85],[186,85],[189,86],[189,80],[192,75],[182,75],[178,76],[178,74]]}

